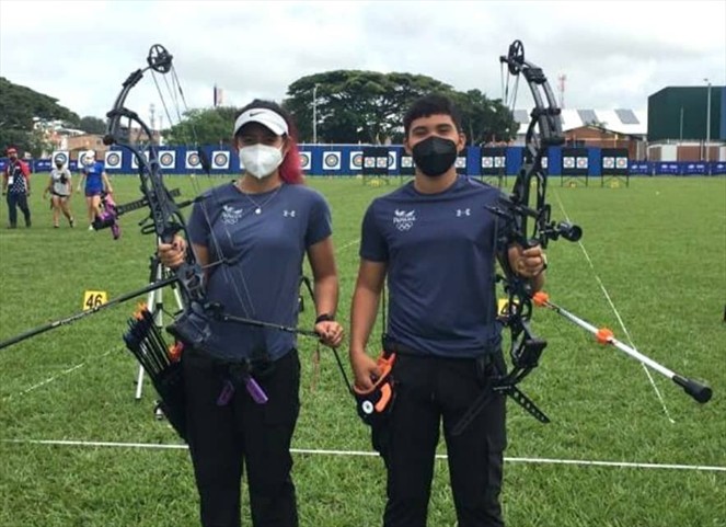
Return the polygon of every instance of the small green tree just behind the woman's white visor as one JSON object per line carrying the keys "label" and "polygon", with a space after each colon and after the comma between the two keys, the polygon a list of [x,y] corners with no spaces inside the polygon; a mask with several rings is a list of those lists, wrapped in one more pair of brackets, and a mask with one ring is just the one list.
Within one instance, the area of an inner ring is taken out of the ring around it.
{"label": "small green tree just behind the woman's white visor", "polygon": [[229,145],[232,123],[240,113],[233,106],[195,108],[184,113],[184,119],[164,130],[168,145]]}

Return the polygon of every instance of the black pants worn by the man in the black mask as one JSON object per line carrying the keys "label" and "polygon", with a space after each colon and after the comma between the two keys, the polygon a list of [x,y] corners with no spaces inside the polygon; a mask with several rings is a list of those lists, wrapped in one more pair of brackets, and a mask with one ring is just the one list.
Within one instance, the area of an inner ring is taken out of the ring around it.
{"label": "black pants worn by the man in the black mask", "polygon": [[[380,447],[388,469],[384,527],[426,526],[441,420],[459,527],[504,525],[499,504],[506,446],[504,396],[495,396],[461,435],[451,434],[496,371],[494,364],[481,366],[473,359],[397,355],[390,419],[373,429],[373,444]],[[377,435],[382,436],[378,442]]]}

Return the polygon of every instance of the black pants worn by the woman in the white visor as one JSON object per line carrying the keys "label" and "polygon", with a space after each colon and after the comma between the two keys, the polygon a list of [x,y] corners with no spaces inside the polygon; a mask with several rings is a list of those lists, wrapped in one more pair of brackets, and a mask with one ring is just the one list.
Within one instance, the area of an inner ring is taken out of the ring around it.
{"label": "black pants worn by the woman in the white visor", "polygon": [[187,431],[204,527],[239,527],[246,467],[254,527],[297,527],[290,440],[300,409],[300,360],[292,351],[255,375],[268,397],[255,403],[244,386],[218,405],[220,367],[197,353],[184,357]]}

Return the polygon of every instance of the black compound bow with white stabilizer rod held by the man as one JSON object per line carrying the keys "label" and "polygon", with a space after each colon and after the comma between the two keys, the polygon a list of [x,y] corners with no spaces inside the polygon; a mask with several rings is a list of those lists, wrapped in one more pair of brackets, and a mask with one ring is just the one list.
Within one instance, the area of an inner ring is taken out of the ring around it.
{"label": "black compound bow with white stabilizer rod held by the man", "polygon": [[[538,337],[530,328],[533,303],[550,307],[563,316],[565,311],[544,300],[542,296],[534,298],[533,301],[534,291],[530,280],[522,278],[511,268],[506,257],[506,249],[512,243],[522,248],[539,244],[545,249],[551,240],[562,237],[575,242],[583,236],[583,230],[577,225],[568,221],[553,221],[551,206],[545,201],[548,177],[542,168],[542,159],[549,147],[561,146],[565,141],[562,131],[561,108],[557,106],[552,88],[542,69],[525,60],[525,46],[520,41],[515,41],[509,46],[507,56],[499,57],[499,61],[503,66],[506,65],[510,78],[516,79],[510,110],[514,110],[520,75],[527,81],[534,100],[534,108],[530,113],[531,121],[525,138],[525,159],[512,192],[509,196],[503,196],[496,206],[489,207],[489,210],[503,219],[505,225],[503,229],[499,229],[497,240],[498,250],[505,255],[500,257],[504,276],[498,278],[503,282],[505,293],[508,295],[507,307],[500,313],[500,321],[509,328],[511,333],[509,350],[511,369],[496,379],[491,390],[485,390],[475,399],[469,411],[454,426],[454,434],[460,434],[497,392],[511,397],[539,421],[550,422],[549,417],[517,388],[517,385],[538,366],[546,346],[546,341]],[[509,81],[507,81],[507,92],[508,83]],[[530,219],[532,220],[531,228],[528,229]],[[575,322],[574,316],[566,318]],[[589,330],[585,325],[581,326]],[[612,335],[610,336],[610,340],[603,342],[625,351],[621,346],[622,343],[612,339]],[[644,357],[641,354],[629,354],[638,360]],[[645,358],[647,359],[647,357]],[[652,359],[641,362],[671,378],[699,402],[706,402],[711,398],[710,388],[678,376]]]}

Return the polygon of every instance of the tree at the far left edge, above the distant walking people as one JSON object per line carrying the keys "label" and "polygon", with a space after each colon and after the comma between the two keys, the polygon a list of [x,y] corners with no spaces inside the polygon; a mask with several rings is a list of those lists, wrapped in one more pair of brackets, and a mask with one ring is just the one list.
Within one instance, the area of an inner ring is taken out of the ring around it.
{"label": "tree at the far left edge, above the distant walking people", "polygon": [[77,126],[79,117],[58,100],[0,77],[0,148],[14,145],[21,150],[37,150],[32,137],[35,121],[58,119]]}

